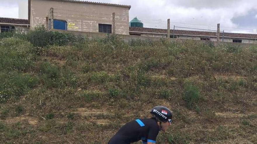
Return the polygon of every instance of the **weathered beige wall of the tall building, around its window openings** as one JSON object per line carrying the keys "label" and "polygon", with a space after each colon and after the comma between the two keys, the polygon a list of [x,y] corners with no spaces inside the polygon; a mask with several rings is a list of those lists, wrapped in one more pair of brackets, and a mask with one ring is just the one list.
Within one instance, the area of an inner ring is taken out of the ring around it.
{"label": "weathered beige wall of the tall building, around its window openings", "polygon": [[[67,30],[98,32],[98,24],[111,24],[115,13],[117,34],[129,34],[129,8],[89,3],[31,0],[30,26],[43,25],[50,8],[54,8],[54,19],[66,20]],[[50,17],[49,17],[50,18]]]}

